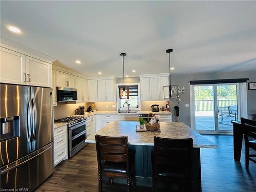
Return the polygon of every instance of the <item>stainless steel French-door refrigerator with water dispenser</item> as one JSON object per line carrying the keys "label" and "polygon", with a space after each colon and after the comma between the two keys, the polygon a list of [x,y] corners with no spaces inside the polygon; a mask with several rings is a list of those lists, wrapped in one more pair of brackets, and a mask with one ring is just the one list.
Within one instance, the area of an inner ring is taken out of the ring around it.
{"label": "stainless steel French-door refrigerator with water dispenser", "polygon": [[54,171],[52,89],[0,85],[1,189],[32,191]]}

